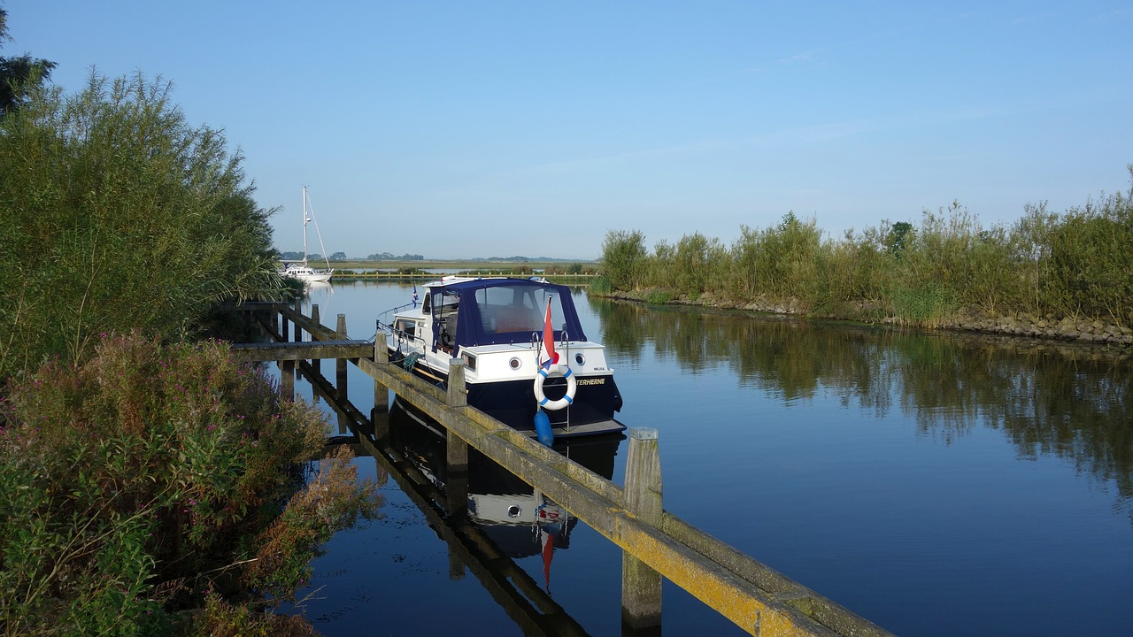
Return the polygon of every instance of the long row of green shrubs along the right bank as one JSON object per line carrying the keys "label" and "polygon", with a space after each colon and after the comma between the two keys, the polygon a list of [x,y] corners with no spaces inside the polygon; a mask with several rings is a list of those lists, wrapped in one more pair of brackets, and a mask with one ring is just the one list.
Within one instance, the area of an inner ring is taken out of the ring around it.
{"label": "long row of green shrubs along the right bank", "polygon": [[651,253],[640,231],[611,230],[595,291],[927,326],[1011,314],[1127,325],[1131,197],[1133,186],[1063,213],[1029,204],[1019,221],[990,228],[953,203],[925,211],[919,226],[883,221],[841,238],[824,238],[813,220],[787,213],[773,228],[741,227],[731,246],[693,232],[675,245],[658,241]]}

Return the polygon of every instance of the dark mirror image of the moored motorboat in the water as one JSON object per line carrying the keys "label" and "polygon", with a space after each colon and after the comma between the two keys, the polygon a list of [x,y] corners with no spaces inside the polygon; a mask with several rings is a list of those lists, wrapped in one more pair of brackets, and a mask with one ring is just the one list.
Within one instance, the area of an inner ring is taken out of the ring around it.
{"label": "dark mirror image of the moored motorboat in the water", "polygon": [[[475,449],[468,451],[467,473],[450,472],[444,428],[399,398],[394,398],[389,418],[390,445],[434,486],[449,492],[467,485],[467,510],[450,515],[467,513],[469,521],[510,558],[540,555],[544,577],[550,579],[553,553],[570,547],[578,518]],[[566,439],[554,450],[611,479],[624,439],[621,433]]]}

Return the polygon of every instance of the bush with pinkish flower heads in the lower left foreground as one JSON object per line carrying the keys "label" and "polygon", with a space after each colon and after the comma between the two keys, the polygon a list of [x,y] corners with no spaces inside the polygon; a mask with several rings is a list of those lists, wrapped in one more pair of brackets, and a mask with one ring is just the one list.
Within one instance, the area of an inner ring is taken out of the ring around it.
{"label": "bush with pinkish flower heads in the lower left foreground", "polygon": [[[172,611],[199,604],[212,578],[238,575],[255,557],[237,549],[241,538],[272,525],[297,487],[296,467],[325,435],[316,410],[280,400],[267,377],[215,342],[107,337],[90,360],[52,360],[9,389],[5,635],[153,634]],[[316,481],[326,498],[310,523],[316,540],[376,513],[373,487],[356,487],[342,461]],[[299,546],[291,560],[314,549]]]}

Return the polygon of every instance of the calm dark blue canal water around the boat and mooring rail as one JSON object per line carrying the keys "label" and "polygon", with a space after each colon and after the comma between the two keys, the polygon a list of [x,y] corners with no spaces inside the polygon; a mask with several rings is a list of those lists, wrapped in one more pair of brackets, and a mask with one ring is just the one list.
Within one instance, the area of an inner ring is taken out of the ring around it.
{"label": "calm dark blue canal water around the boat and mooring rail", "polygon": [[[351,337],[369,338],[411,290],[344,283],[312,298],[324,324],[342,313]],[[1127,359],[576,304],[616,371],[619,419],[659,431],[671,512],[898,635],[1133,634]],[[350,372],[368,413],[372,384]],[[621,483],[624,449],[587,453]],[[382,475],[370,458],[357,465]],[[339,534],[316,562],[304,606],[323,634],[523,634],[482,574],[450,566],[448,532],[394,481],[382,493],[384,519]],[[570,621],[621,635],[612,543],[577,524],[547,578],[522,547],[529,528],[488,530]],[[668,584],[663,631],[743,634]]]}

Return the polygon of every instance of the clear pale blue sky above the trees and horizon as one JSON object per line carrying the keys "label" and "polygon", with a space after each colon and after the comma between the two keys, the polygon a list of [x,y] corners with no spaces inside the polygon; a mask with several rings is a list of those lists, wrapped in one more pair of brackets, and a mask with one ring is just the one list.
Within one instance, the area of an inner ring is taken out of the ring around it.
{"label": "clear pale blue sky above the trees and horizon", "polygon": [[953,201],[1010,224],[1130,186],[1128,0],[0,2],[2,54],[68,92],[172,82],[284,250],[305,185],[326,252],[429,258],[731,244],[789,211],[841,237]]}

